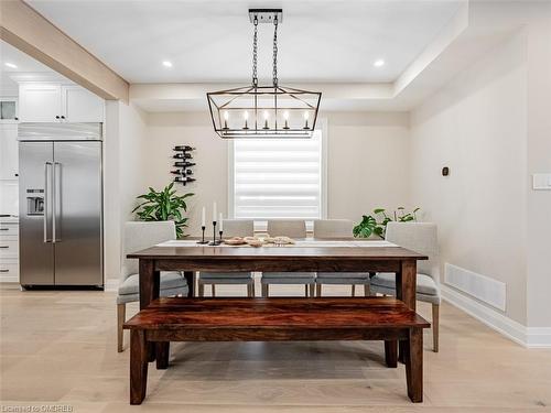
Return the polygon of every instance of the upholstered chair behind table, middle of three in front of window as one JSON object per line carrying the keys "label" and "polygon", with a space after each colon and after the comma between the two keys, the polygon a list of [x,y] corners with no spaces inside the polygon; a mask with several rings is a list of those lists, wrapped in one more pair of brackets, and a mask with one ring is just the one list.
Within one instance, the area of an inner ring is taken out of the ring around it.
{"label": "upholstered chair behind table, middle of three in front of window", "polygon": [[[287,236],[290,238],[306,238],[306,224],[303,220],[269,220],[270,237]],[[270,284],[302,284],[305,296],[314,295],[315,272],[263,272],[262,296],[269,295]]]}

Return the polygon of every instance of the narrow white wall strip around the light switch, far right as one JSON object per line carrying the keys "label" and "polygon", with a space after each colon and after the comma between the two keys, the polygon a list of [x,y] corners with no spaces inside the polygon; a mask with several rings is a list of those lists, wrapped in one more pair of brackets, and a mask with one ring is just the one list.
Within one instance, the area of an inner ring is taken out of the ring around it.
{"label": "narrow white wall strip around the light switch, far right", "polygon": [[551,173],[551,3],[530,8],[528,25],[528,326],[551,327],[551,191],[533,191],[533,173]]}

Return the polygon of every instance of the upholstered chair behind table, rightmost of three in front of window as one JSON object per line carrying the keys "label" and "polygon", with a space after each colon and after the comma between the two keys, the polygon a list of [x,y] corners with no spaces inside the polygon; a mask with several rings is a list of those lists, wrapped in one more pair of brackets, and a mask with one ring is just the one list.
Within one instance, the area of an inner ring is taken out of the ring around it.
{"label": "upholstered chair behind table, rightmost of three in front of window", "polygon": [[[315,239],[353,239],[354,222],[348,219],[314,220]],[[364,295],[369,295],[369,273],[367,272],[318,272],[315,279],[316,296],[322,295],[323,284],[352,285],[352,296],[356,285],[364,285]]]}

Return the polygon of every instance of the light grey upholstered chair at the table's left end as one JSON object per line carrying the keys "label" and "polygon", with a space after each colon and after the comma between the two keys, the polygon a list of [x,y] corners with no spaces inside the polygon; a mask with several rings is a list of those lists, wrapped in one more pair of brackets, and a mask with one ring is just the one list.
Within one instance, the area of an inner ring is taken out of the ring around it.
{"label": "light grey upholstered chair at the table's left end", "polygon": [[[127,303],[140,301],[138,260],[127,259],[130,252],[137,252],[156,243],[176,239],[173,221],[132,221],[125,224],[122,251],[122,274],[117,295],[117,349],[123,349],[122,325],[126,319]],[[161,296],[187,295],[187,282],[180,271],[161,271]]]}

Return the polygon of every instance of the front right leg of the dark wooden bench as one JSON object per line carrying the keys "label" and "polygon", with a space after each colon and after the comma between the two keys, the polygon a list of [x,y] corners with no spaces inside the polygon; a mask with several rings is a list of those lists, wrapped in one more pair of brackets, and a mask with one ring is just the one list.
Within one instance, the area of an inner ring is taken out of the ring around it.
{"label": "front right leg of the dark wooden bench", "polygon": [[408,395],[413,403],[421,403],[423,401],[423,330],[411,328],[409,339],[403,343],[406,343],[403,358]]}

